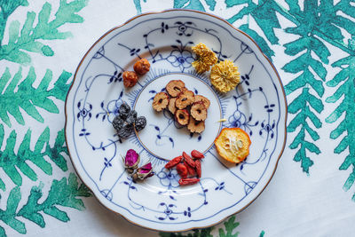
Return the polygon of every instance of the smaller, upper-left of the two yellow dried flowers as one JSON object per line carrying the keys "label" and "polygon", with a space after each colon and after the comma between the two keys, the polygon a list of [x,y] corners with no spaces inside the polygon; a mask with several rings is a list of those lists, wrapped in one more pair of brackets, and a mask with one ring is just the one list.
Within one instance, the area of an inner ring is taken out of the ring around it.
{"label": "smaller, upper-left of the two yellow dried flowers", "polygon": [[198,73],[209,71],[209,67],[217,63],[216,53],[209,50],[204,43],[199,43],[193,46],[192,49],[197,56],[197,59],[193,61],[193,67]]}

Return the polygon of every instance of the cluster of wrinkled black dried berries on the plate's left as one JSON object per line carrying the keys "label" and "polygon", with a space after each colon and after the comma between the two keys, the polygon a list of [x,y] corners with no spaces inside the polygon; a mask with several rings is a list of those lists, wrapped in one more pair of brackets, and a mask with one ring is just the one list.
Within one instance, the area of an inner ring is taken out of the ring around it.
{"label": "cluster of wrinkled black dried berries on the plate's left", "polygon": [[136,110],[130,110],[127,103],[123,103],[118,109],[118,115],[114,117],[112,122],[117,135],[120,138],[128,138],[134,129],[143,130],[146,127],[146,117],[137,117]]}

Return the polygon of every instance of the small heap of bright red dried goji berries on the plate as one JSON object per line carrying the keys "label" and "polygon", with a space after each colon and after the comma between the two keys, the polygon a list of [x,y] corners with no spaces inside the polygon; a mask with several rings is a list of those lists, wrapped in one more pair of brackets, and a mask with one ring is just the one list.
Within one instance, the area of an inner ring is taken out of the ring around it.
{"label": "small heap of bright red dried goji berries on the plate", "polygon": [[191,156],[183,152],[183,155],[177,156],[165,165],[168,170],[177,167],[177,174],[181,177],[178,180],[180,186],[193,185],[200,181],[201,159],[205,156],[196,150],[191,152]]}

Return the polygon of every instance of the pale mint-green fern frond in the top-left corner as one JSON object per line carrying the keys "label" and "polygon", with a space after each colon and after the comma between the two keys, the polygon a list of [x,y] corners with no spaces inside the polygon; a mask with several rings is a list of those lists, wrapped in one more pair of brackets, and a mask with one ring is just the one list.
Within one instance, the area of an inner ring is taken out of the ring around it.
{"label": "pale mint-green fern frond in the top-left corner", "polygon": [[[7,3],[6,3],[7,2]],[[9,4],[9,3],[12,4]],[[43,43],[43,40],[66,39],[71,36],[70,32],[60,32],[59,27],[66,23],[81,23],[83,18],[76,14],[86,6],[88,0],[75,0],[67,3],[67,0],[61,0],[59,9],[55,12],[54,20],[49,20],[51,4],[43,4],[41,12],[38,13],[36,26],[36,13],[28,12],[27,19],[20,29],[20,22],[13,20],[9,25],[9,42],[4,44],[4,29],[10,14],[20,5],[27,5],[26,0],[0,1],[0,12],[4,12],[4,17],[0,18],[0,60],[6,59],[19,64],[28,64],[31,57],[26,51],[41,53],[50,57],[54,55],[49,45]]]}

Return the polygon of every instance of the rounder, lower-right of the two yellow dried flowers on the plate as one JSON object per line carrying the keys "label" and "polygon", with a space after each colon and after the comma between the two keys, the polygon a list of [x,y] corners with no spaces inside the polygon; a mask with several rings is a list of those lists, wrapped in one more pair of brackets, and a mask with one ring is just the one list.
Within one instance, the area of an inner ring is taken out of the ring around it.
{"label": "rounder, lower-right of the two yellow dried flowers on the plate", "polygon": [[212,67],[209,79],[218,91],[228,92],[240,82],[240,75],[238,67],[232,61],[225,60]]}

